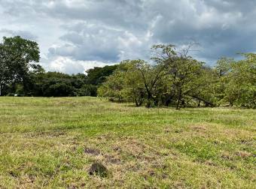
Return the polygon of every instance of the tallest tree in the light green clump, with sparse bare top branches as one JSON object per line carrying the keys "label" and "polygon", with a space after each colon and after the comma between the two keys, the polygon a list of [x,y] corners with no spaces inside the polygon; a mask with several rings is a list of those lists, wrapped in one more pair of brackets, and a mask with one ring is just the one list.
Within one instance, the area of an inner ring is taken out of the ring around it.
{"label": "tallest tree in the light green clump, with sparse bare top branches", "polygon": [[178,110],[180,105],[184,105],[184,98],[190,95],[194,88],[194,81],[200,77],[203,69],[203,62],[197,62],[188,53],[192,45],[182,49],[181,52],[175,50],[172,44],[161,44],[153,46],[157,51],[153,58],[160,67],[157,78],[165,76],[169,83],[169,98],[175,100],[175,107]]}

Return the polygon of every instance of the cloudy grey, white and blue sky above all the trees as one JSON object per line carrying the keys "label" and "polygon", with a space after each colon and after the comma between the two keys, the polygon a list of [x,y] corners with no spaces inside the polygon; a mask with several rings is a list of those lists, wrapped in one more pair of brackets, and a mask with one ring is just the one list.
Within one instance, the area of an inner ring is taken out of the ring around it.
{"label": "cloudy grey, white and blue sky above all the trees", "polygon": [[153,43],[200,43],[194,56],[256,52],[256,0],[0,0],[0,37],[41,48],[47,71],[69,74],[150,58]]}

